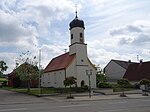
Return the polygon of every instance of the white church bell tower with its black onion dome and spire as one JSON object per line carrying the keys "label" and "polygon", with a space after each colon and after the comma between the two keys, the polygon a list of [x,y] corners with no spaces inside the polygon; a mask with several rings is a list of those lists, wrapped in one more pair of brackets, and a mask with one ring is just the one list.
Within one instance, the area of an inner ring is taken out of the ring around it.
{"label": "white church bell tower with its black onion dome and spire", "polygon": [[69,54],[76,54],[77,64],[85,65],[87,60],[87,44],[84,37],[84,21],[78,18],[77,11],[75,18],[69,24],[70,41]]}

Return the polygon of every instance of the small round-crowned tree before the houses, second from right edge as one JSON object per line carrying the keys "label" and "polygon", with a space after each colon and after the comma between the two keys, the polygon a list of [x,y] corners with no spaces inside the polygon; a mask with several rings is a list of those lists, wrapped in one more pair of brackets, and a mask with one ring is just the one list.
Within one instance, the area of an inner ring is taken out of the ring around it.
{"label": "small round-crowned tree before the houses, second from right edge", "polygon": [[130,85],[129,81],[127,79],[119,79],[117,81],[118,85],[122,88],[122,94],[120,96],[122,97],[126,97],[125,93],[124,93],[124,88],[128,87]]}

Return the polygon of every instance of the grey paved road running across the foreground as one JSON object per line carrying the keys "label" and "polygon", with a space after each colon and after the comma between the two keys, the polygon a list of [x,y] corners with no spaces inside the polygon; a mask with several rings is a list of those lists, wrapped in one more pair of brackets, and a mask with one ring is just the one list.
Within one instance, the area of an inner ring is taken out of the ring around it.
{"label": "grey paved road running across the foreground", "polygon": [[63,102],[0,90],[0,112],[150,112],[150,97]]}

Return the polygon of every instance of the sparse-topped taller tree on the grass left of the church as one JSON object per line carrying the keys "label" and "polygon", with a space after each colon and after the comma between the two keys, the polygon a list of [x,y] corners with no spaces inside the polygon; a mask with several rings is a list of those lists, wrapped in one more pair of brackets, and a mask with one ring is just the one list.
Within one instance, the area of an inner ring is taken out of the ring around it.
{"label": "sparse-topped taller tree on the grass left of the church", "polygon": [[[18,67],[18,65],[20,66]],[[38,78],[39,69],[37,67],[36,56],[32,56],[29,51],[22,52],[19,58],[16,60],[16,70],[17,77],[21,81],[27,82],[27,92],[30,91],[31,80]]]}

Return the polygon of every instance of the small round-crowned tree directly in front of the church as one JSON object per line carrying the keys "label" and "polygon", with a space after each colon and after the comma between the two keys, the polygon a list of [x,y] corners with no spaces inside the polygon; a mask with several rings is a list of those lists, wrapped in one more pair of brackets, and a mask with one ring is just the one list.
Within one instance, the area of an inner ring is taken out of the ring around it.
{"label": "small round-crowned tree directly in front of the church", "polygon": [[76,84],[76,78],[73,77],[73,76],[66,77],[66,79],[64,80],[64,85],[70,87],[70,92],[69,92],[69,97],[68,98],[73,98],[71,96],[71,86],[74,85],[74,84]]}

